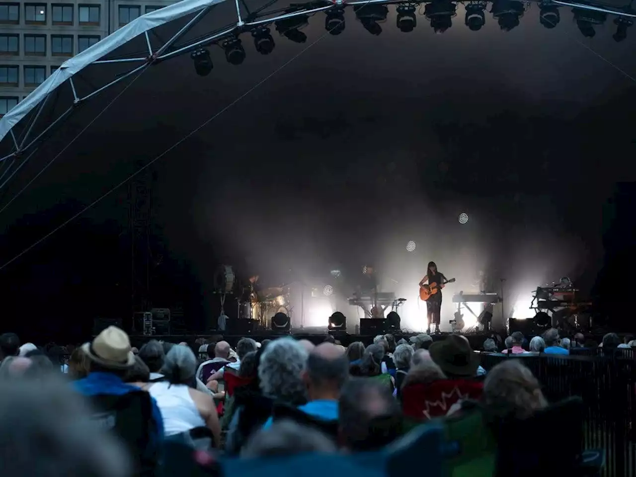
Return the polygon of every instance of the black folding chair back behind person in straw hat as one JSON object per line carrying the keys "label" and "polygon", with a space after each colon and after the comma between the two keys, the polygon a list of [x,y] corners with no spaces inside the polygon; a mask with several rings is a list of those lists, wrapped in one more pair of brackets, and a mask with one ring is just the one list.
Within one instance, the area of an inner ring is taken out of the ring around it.
{"label": "black folding chair back behind person in straw hat", "polygon": [[127,447],[134,475],[154,476],[160,455],[157,443],[149,436],[156,432],[153,422],[152,398],[148,392],[134,391],[121,396],[97,394],[91,396],[93,420],[100,427],[114,432]]}

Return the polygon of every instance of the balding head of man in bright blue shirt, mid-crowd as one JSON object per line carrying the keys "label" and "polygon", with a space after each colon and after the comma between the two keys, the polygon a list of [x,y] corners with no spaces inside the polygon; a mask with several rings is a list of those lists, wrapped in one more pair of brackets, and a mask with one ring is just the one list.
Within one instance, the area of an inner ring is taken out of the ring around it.
{"label": "balding head of man in bright blue shirt, mid-crowd", "polygon": [[349,360],[342,349],[332,343],[318,345],[307,357],[303,372],[308,399],[338,399],[348,377]]}

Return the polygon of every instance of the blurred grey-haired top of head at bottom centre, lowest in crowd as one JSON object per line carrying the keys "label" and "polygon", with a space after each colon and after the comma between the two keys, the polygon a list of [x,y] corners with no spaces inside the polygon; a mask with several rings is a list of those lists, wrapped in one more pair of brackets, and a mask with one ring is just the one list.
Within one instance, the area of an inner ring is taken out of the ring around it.
{"label": "blurred grey-haired top of head at bottom centre, lowest in crowd", "polygon": [[282,457],[310,452],[336,453],[336,446],[317,429],[291,420],[277,420],[249,438],[241,457]]}

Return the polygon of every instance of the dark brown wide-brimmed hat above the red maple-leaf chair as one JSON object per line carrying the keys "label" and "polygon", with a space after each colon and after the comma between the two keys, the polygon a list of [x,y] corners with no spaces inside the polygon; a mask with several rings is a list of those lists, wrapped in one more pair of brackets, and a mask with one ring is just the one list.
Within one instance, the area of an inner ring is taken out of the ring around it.
{"label": "dark brown wide-brimmed hat above the red maple-leaf chair", "polygon": [[433,361],[449,378],[473,377],[480,357],[473,352],[465,336],[449,335],[429,348]]}

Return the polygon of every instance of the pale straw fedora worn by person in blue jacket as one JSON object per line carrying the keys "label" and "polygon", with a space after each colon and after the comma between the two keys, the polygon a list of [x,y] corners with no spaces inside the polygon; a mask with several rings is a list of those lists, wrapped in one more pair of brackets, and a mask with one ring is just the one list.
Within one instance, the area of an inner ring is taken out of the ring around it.
{"label": "pale straw fedora worn by person in blue jacket", "polygon": [[116,326],[109,326],[95,337],[92,343],[81,347],[86,356],[104,368],[126,370],[135,364],[135,355],[128,335]]}

